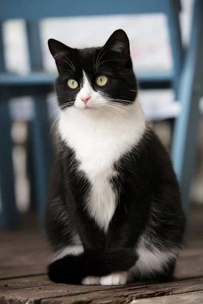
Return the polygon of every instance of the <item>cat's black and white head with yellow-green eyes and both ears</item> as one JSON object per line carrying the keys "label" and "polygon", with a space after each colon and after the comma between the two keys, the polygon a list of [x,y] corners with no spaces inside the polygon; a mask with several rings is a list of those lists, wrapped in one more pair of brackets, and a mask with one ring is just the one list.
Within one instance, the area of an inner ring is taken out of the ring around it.
{"label": "cat's black and white head with yellow-green eyes and both ears", "polygon": [[113,109],[136,100],[137,81],[123,30],[100,48],[73,49],[54,39],[48,45],[59,72],[55,87],[61,109]]}

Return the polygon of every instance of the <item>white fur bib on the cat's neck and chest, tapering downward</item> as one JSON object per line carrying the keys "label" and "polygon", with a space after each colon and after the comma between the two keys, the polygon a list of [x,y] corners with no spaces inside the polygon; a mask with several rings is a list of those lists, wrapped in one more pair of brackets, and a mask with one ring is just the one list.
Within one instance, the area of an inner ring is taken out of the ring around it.
{"label": "white fur bib on the cat's neck and chest, tapering downward", "polygon": [[87,210],[97,224],[107,231],[116,209],[116,193],[110,180],[113,165],[135,145],[145,130],[145,120],[139,102],[122,112],[81,110],[61,111],[59,132],[75,150],[80,170],[91,182]]}

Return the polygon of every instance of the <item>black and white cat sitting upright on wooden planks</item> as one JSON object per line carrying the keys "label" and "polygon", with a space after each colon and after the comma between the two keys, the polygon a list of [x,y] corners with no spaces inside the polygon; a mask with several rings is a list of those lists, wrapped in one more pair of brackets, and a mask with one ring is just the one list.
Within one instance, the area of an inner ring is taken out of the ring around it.
{"label": "black and white cat sitting upright on wooden planks", "polygon": [[104,47],[50,39],[59,72],[58,152],[46,231],[54,282],[172,278],[185,219],[165,148],[146,126],[126,33]]}

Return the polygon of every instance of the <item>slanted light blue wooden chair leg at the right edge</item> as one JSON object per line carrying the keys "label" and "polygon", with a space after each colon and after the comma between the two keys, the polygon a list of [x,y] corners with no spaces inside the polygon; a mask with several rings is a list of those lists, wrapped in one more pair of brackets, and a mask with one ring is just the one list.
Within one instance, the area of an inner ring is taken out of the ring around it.
{"label": "slanted light blue wooden chair leg at the right edge", "polygon": [[202,95],[203,2],[195,0],[190,43],[180,81],[181,114],[175,123],[172,156],[180,181],[183,207],[189,214],[189,195],[194,172],[199,123],[199,98]]}

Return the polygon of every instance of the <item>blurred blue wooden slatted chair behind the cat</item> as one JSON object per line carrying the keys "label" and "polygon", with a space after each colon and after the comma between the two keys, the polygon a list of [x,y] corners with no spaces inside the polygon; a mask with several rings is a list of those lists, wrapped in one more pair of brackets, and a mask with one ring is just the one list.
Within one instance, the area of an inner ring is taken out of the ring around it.
{"label": "blurred blue wooden slatted chair behind the cat", "polygon": [[[30,5],[27,0],[7,0],[0,10],[0,22],[7,19],[23,18],[26,20],[31,73],[25,76],[8,74],[4,66],[2,27],[0,24],[0,188],[3,203],[2,224],[12,226],[18,223],[15,205],[13,166],[11,158],[12,142],[10,138],[10,116],[8,101],[13,96],[31,95],[35,104],[35,118],[32,121],[32,143],[35,163],[36,196],[40,218],[43,218],[47,197],[47,183],[50,168],[51,143],[49,142],[49,126],[47,122],[47,106],[43,102],[51,90],[55,75],[43,72],[40,35],[38,22],[45,17],[88,16],[110,14],[164,13],[168,20],[174,70],[172,73],[138,74],[141,83],[154,84],[170,82],[177,97],[182,103],[181,115],[175,127],[173,159],[175,170],[181,181],[184,208],[188,212],[188,191],[191,184],[195,159],[195,140],[197,131],[197,95],[194,94],[196,84],[200,82],[199,62],[202,38],[199,29],[203,20],[202,1],[195,0],[191,38],[187,55],[181,41],[179,0],[103,0],[100,6],[95,0],[36,0]],[[193,49],[194,48],[194,49]],[[199,66],[198,66],[198,64]],[[181,79],[181,82],[179,80]],[[196,89],[195,89],[196,90]],[[163,101],[164,102],[164,101]],[[188,164],[188,159],[190,164]],[[189,174],[189,176],[185,175]]]}

